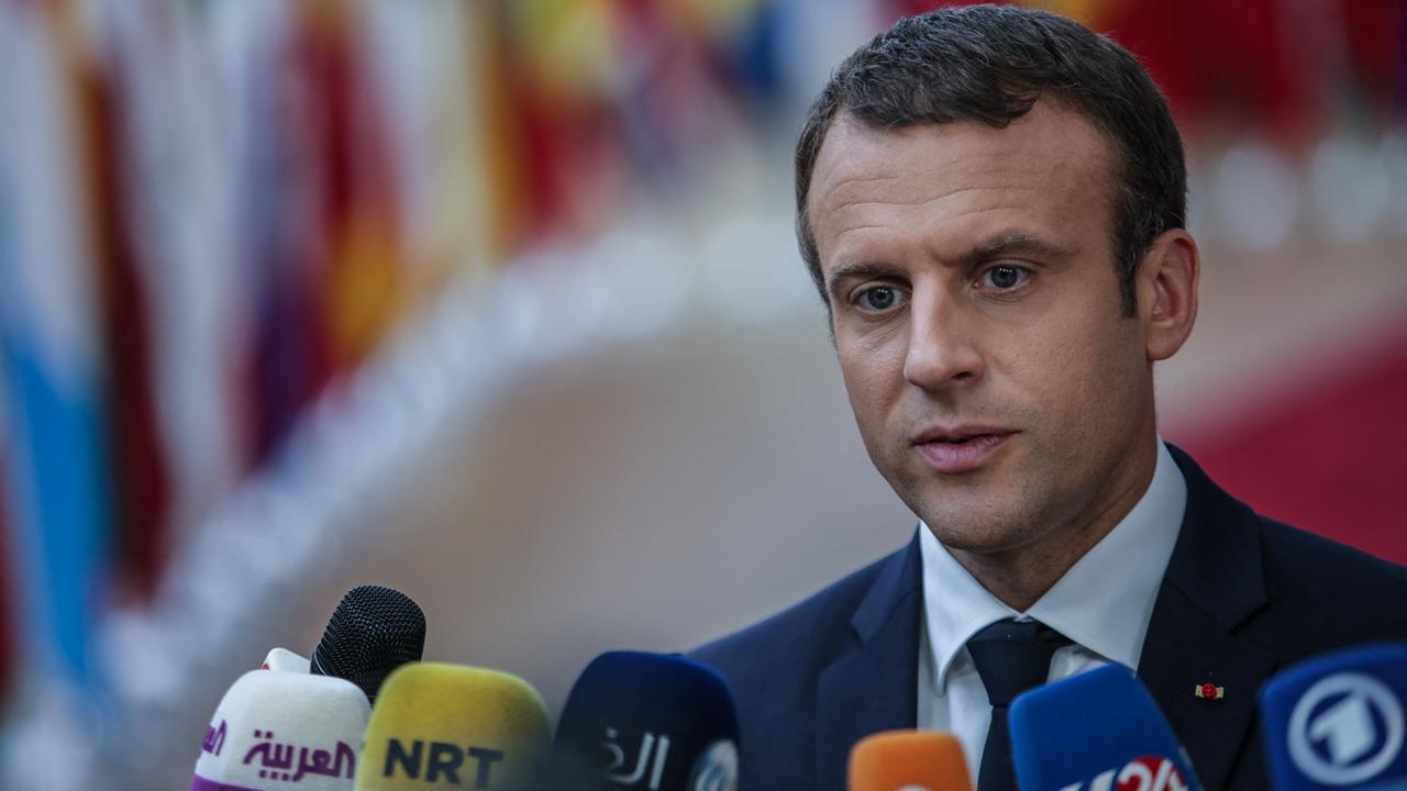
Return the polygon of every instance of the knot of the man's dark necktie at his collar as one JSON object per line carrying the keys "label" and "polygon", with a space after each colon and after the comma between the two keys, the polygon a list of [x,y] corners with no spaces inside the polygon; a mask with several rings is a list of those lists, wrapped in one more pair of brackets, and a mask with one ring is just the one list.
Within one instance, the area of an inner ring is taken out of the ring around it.
{"label": "knot of the man's dark necktie at his collar", "polygon": [[1051,671],[1051,656],[1071,640],[1038,621],[998,621],[968,640],[988,701],[1007,707],[1021,692],[1040,687]]}

